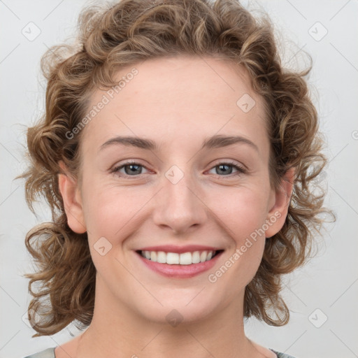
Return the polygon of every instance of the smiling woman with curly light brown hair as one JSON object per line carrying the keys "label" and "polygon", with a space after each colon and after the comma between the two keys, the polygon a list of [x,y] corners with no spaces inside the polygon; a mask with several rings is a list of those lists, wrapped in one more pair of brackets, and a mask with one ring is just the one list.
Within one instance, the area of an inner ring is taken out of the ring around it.
{"label": "smiling woman with curly light brown hair", "polygon": [[287,324],[280,277],[331,213],[310,69],[236,0],[92,7],[78,40],[43,57],[23,176],[53,216],[26,239],[34,336],[87,329],[29,357],[289,357],[243,323]]}

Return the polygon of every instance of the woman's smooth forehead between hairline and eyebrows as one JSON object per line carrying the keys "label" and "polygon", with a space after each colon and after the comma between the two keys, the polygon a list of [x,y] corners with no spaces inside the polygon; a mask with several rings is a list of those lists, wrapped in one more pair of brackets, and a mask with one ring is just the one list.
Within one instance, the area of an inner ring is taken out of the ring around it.
{"label": "woman's smooth forehead between hairline and eyebrows", "polygon": [[99,147],[115,134],[147,136],[172,146],[189,136],[202,143],[214,134],[259,140],[266,135],[262,98],[252,90],[248,73],[229,60],[148,59],[120,69],[115,80],[118,86],[92,94],[87,113],[105,104],[85,126],[87,145]]}

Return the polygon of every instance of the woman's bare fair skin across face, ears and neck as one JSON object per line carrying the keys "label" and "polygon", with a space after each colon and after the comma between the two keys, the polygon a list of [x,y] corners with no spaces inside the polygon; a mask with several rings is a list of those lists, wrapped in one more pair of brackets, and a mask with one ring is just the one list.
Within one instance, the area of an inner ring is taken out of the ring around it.
{"label": "woman's bare fair skin across face, ears and neck", "polygon": [[[121,69],[118,79],[132,67]],[[138,74],[83,129],[82,182],[59,175],[69,226],[87,231],[96,266],[94,317],[90,327],[55,350],[62,357],[275,357],[246,336],[245,286],[262,259],[265,240],[285,222],[294,170],[271,189],[270,143],[262,99],[240,67],[210,57],[166,57],[136,66]],[[106,91],[92,95],[92,107]],[[236,101],[250,94],[255,106],[244,113]],[[201,150],[215,134],[250,139]],[[152,139],[158,150],[101,145],[115,136]],[[110,169],[135,159],[120,173]],[[220,163],[246,166],[238,173]],[[176,165],[183,177],[165,173]],[[62,168],[66,171],[62,163]],[[125,174],[127,173],[127,178]],[[122,177],[120,177],[122,174]],[[130,176],[131,175],[131,176]],[[128,178],[129,176],[129,178]],[[277,217],[280,215],[280,217]],[[216,282],[215,273],[250,234],[276,220]],[[271,220],[272,221],[272,220]],[[112,248],[99,255],[105,237]],[[166,278],[146,268],[135,250],[148,245],[210,245],[224,249],[210,272],[194,278]],[[166,320],[176,309],[182,322]]]}

